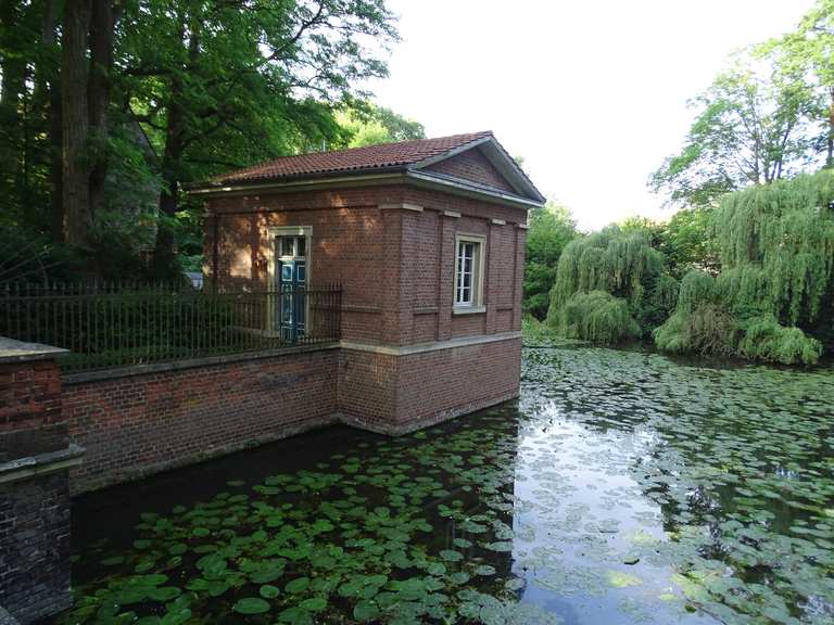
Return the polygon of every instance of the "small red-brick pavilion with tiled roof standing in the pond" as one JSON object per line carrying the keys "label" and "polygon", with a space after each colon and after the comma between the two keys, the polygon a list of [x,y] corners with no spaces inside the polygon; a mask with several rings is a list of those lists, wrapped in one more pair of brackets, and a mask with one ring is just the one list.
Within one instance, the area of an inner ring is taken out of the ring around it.
{"label": "small red-brick pavilion with tiled roof standing in the pond", "polygon": [[[192,188],[205,288],[342,285],[328,393],[403,433],[518,395],[527,212],[544,197],[491,132],[277,158]],[[266,330],[313,332],[274,310]]]}

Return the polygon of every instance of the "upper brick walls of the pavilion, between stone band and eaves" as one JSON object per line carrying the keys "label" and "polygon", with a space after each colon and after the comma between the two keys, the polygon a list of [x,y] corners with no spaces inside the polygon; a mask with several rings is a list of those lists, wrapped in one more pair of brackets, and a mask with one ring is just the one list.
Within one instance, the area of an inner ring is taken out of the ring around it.
{"label": "upper brick walls of the pavilion, between stone band and eaves", "polygon": [[[391,204],[422,212],[380,208]],[[311,283],[342,284],[348,341],[407,345],[520,328],[522,208],[392,186],[218,197],[208,212],[207,283],[216,269],[222,286],[264,288],[268,229],[312,227]],[[452,315],[457,232],[486,238],[488,311],[466,318]]]}

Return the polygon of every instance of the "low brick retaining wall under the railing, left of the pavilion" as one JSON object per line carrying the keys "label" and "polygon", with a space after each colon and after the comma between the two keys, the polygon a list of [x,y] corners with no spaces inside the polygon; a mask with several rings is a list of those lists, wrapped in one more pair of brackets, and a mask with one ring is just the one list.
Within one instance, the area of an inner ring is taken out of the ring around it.
{"label": "low brick retaining wall under the railing, left of the pavilion", "polygon": [[105,380],[70,377],[63,412],[86,448],[74,493],[125,482],[330,422],[334,349],[229,359]]}

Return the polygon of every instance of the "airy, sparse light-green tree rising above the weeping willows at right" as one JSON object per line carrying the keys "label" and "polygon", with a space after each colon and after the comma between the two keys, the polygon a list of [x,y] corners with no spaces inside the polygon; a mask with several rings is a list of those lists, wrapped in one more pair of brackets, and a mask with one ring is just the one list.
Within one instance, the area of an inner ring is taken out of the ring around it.
{"label": "airy, sparse light-green tree rising above the weeping willows at right", "polygon": [[762,53],[737,55],[693,105],[679,154],[649,184],[672,203],[709,206],[731,191],[803,170],[818,153],[819,93],[806,77]]}

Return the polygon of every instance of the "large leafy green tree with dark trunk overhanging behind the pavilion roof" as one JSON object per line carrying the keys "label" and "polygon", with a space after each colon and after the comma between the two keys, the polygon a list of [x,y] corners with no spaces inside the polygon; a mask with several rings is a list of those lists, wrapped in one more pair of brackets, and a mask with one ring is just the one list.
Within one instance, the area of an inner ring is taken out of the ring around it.
{"label": "large leafy green tree with dark trunk overhanging behind the pavilion roof", "polygon": [[[151,137],[162,186],[153,269],[176,262],[181,183],[338,140],[332,106],[386,64],[382,0],[149,2],[125,23],[124,100]],[[125,22],[125,21],[123,21]]]}

